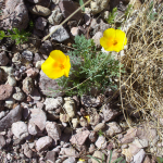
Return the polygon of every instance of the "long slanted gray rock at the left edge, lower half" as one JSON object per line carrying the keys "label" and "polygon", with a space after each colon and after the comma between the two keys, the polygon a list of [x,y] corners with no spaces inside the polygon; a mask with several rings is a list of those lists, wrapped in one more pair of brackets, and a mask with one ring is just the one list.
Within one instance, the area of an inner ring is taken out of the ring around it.
{"label": "long slanted gray rock at the left edge, lower half", "polygon": [[11,127],[11,125],[22,118],[22,108],[17,105],[0,121],[0,131]]}

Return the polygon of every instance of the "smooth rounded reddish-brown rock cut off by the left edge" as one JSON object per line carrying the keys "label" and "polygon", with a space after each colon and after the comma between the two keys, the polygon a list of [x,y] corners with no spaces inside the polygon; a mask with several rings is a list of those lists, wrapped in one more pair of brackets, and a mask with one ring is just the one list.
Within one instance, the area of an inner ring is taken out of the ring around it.
{"label": "smooth rounded reddish-brown rock cut off by the left edge", "polygon": [[13,92],[13,87],[8,85],[0,85],[0,100],[8,99]]}

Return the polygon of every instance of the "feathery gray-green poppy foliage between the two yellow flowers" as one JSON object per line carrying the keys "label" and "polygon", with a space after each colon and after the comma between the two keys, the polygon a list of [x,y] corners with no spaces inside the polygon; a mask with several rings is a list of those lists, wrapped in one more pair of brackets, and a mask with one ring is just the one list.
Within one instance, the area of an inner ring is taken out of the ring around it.
{"label": "feathery gray-green poppy foliage between the two yellow flowers", "polygon": [[115,86],[111,80],[120,75],[117,60],[111,54],[97,51],[93,40],[87,40],[83,35],[75,37],[73,48],[73,51],[67,52],[72,65],[70,77],[57,79],[58,85],[64,88],[61,91],[67,96],[82,96],[88,95],[92,87],[102,92],[106,87]]}

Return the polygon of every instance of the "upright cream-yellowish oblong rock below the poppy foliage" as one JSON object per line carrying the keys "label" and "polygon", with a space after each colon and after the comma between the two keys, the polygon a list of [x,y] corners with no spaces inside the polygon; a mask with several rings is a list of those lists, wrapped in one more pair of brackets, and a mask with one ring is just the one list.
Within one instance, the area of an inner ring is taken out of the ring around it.
{"label": "upright cream-yellowish oblong rock below the poppy foliage", "polygon": [[65,103],[64,103],[63,108],[65,109],[65,111],[70,117],[74,117],[75,116],[74,100],[72,100],[72,98],[64,98],[64,100],[65,100]]}

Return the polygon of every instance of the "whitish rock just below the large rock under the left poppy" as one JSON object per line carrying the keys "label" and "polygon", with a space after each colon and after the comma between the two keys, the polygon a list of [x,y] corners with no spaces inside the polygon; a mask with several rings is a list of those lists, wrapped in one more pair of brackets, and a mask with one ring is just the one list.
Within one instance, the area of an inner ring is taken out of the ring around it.
{"label": "whitish rock just below the large rock under the left poppy", "polygon": [[46,105],[46,111],[52,111],[63,104],[63,99],[62,99],[62,97],[58,97],[55,99],[54,98],[46,98],[46,101],[43,103]]}

